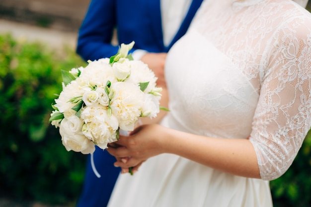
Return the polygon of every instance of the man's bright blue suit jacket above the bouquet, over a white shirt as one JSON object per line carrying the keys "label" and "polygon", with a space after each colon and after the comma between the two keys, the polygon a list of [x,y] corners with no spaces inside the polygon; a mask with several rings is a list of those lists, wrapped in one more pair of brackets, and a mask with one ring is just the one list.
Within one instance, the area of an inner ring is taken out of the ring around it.
{"label": "man's bright blue suit jacket above the bouquet, over a white shirt", "polygon": [[119,44],[135,41],[134,50],[168,52],[182,37],[201,5],[193,0],[179,31],[171,44],[163,44],[160,0],[92,0],[78,34],[77,53],[85,60],[109,58],[118,52],[110,44],[113,29],[117,28]]}

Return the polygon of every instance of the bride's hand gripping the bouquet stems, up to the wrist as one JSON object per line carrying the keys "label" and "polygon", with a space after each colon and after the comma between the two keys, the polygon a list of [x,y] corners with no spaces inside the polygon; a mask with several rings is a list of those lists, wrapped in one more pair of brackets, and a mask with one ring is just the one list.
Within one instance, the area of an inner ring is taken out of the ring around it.
{"label": "bride's hand gripping the bouquet stems, up to the wrist", "polygon": [[161,133],[165,132],[159,125],[143,125],[135,129],[129,136],[120,136],[116,144],[122,147],[109,147],[107,150],[116,157],[115,166],[127,172],[129,167],[136,171],[148,158],[163,153]]}

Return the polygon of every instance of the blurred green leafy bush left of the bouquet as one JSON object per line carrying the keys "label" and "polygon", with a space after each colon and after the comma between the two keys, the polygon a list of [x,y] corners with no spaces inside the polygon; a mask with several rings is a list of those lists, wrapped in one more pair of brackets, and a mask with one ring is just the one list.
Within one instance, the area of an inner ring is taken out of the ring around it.
{"label": "blurred green leafy bush left of the bouquet", "polygon": [[0,36],[0,195],[65,204],[80,193],[85,156],[67,152],[49,125],[61,69],[85,63],[42,43]]}

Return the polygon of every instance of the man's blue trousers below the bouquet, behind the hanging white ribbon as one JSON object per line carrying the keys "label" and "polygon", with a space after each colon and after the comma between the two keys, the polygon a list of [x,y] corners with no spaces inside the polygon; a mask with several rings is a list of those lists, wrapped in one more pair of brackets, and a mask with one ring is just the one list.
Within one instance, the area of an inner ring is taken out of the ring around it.
{"label": "man's blue trousers below the bouquet, behind the hanging white ribbon", "polygon": [[86,173],[77,207],[106,207],[120,174],[121,168],[113,166],[115,157],[96,146],[93,153],[94,165],[100,174],[98,178],[91,167],[90,155],[87,157]]}

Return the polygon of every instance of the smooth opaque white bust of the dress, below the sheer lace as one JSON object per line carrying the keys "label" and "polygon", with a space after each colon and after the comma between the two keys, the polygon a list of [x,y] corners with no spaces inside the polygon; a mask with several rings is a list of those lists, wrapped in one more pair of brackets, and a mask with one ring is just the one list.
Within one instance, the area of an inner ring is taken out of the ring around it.
{"label": "smooth opaque white bust of the dress, below the sheer lace", "polygon": [[245,75],[244,69],[196,31],[189,31],[166,61],[171,113],[197,130],[235,128],[235,123],[249,129],[259,97],[252,80],[258,78]]}

